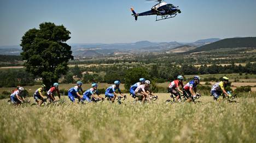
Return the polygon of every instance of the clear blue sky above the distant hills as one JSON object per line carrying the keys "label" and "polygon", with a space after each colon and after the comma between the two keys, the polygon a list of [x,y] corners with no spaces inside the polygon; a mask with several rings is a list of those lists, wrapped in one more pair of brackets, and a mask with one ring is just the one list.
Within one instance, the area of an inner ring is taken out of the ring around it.
{"label": "clear blue sky above the distant hills", "polygon": [[63,24],[68,43],[193,42],[207,38],[256,36],[255,0],[173,0],[182,13],[155,21],[131,16],[150,10],[144,0],[0,0],[0,46],[19,45],[21,37],[42,22]]}

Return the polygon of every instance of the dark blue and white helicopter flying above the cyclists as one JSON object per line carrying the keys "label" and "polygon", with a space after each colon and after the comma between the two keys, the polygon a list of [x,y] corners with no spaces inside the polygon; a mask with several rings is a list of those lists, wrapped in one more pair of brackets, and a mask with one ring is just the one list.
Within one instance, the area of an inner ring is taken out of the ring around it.
{"label": "dark blue and white helicopter flying above the cyclists", "polygon": [[[147,15],[156,15],[155,21],[166,20],[168,18],[173,18],[177,15],[177,13],[181,13],[181,10],[178,7],[175,7],[173,4],[167,4],[162,2],[164,0],[146,0],[146,1],[155,1],[159,2],[154,5],[151,10],[146,11],[144,13],[136,14],[134,9],[131,8],[132,16],[135,17],[135,21],[138,20],[138,16],[147,16]],[[159,18],[160,17],[160,18]]]}

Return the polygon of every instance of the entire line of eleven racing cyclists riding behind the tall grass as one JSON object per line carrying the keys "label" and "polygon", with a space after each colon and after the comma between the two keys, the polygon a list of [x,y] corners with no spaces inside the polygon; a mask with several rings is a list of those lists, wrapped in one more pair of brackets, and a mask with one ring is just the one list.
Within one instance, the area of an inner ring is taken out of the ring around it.
{"label": "entire line of eleven racing cyclists riding behind the tall grass", "polygon": [[[176,80],[173,80],[170,84],[168,84],[168,92],[176,96],[175,102],[181,102],[181,94],[187,98],[187,101],[193,101],[193,98],[197,96],[196,86],[200,83],[201,78],[199,76],[194,76],[193,80],[190,80],[187,84],[183,85],[183,76],[178,76]],[[221,82],[218,82],[212,86],[211,95],[213,96],[214,100],[218,100],[219,96],[224,94],[225,96],[231,96],[230,92],[225,90],[225,86],[228,84],[228,78],[223,77]],[[83,83],[81,81],[77,82],[73,88],[68,90],[68,98],[70,101],[75,103],[75,98],[78,99],[78,102],[92,102],[97,100],[104,100],[97,91],[97,84],[93,83],[91,88],[84,91],[82,89]],[[117,97],[124,97],[125,95],[121,92],[120,88],[120,81],[115,80],[113,85],[110,85],[105,91],[105,97],[108,98],[109,101],[112,103],[115,101]],[[142,103],[146,102],[147,98],[152,98],[152,91],[149,88],[150,81],[146,80],[145,78],[139,78],[139,82],[131,85],[130,88],[130,95],[132,98],[135,98],[136,101],[140,101]],[[53,86],[46,92],[46,97],[43,96],[43,92],[45,91],[45,85],[42,84],[40,88],[38,88],[33,95],[34,100],[37,102],[38,105],[41,105],[47,99],[49,102],[55,102],[56,99],[54,97],[55,93],[61,98],[60,91],[59,91],[59,84],[54,83]],[[179,88],[181,87],[181,88]],[[20,104],[25,101],[24,96],[22,96],[24,92],[24,88],[18,86],[18,88],[13,91],[10,95],[10,101],[13,104]],[[79,94],[79,91],[83,93],[83,95]],[[121,96],[118,96],[118,93]]]}

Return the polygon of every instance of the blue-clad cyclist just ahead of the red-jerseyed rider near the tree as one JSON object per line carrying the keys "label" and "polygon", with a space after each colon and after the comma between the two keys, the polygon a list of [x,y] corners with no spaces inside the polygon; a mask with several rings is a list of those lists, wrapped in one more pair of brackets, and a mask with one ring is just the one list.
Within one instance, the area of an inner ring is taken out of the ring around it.
{"label": "blue-clad cyclist just ahead of the red-jerseyed rider near the tree", "polygon": [[77,85],[74,86],[74,88],[71,88],[71,89],[68,90],[68,98],[73,103],[75,102],[75,98],[78,98],[79,102],[83,98],[83,96],[79,94],[79,91],[84,92],[83,89],[82,89],[82,85],[83,85],[83,83],[81,81],[78,81]]}

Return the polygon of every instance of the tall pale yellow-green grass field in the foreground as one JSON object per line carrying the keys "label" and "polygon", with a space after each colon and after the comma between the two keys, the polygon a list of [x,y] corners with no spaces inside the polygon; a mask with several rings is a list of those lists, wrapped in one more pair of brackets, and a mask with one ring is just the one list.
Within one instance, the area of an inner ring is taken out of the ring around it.
{"label": "tall pale yellow-green grass field in the foreground", "polygon": [[0,142],[255,142],[255,93],[238,103],[65,103],[14,107],[0,100]]}

